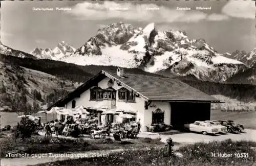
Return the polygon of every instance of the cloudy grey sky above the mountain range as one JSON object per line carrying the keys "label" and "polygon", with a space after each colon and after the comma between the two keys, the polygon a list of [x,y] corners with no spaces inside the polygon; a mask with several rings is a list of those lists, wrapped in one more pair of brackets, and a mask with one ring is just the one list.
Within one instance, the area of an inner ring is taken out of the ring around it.
{"label": "cloudy grey sky above the mountain range", "polygon": [[2,43],[25,52],[54,49],[60,41],[77,49],[98,29],[119,21],[141,28],[155,22],[158,31],[183,30],[190,39],[204,38],[219,53],[248,53],[256,45],[253,1],[2,1],[0,12]]}

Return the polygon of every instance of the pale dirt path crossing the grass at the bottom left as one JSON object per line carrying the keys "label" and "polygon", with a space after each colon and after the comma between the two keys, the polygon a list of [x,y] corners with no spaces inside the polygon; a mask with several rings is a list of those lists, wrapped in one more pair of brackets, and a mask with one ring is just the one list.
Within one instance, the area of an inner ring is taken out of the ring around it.
{"label": "pale dirt path crossing the grass at the bottom left", "polygon": [[[174,146],[174,150],[177,150],[179,146]],[[134,149],[137,150],[137,149]],[[78,158],[91,158],[98,156],[105,156],[114,154],[116,152],[122,152],[125,149],[116,149],[116,150],[98,150],[98,151],[86,151],[86,152],[75,152],[75,153],[61,153],[61,155],[65,156],[58,156],[60,154],[56,153],[42,153],[37,154],[38,156],[42,157],[32,157],[31,155],[28,157],[19,157],[19,158],[3,158],[1,159],[1,166],[26,166],[26,165],[35,165],[39,163],[47,163],[47,162],[55,162],[61,160],[69,160],[69,159],[78,159]]]}

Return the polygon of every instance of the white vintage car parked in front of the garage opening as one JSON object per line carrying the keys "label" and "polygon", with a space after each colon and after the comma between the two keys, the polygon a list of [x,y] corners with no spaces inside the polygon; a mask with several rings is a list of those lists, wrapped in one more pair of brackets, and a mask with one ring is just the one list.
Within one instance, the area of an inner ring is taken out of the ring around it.
{"label": "white vintage car parked in front of the garage opening", "polygon": [[216,126],[202,121],[196,121],[192,124],[185,124],[184,128],[185,130],[200,132],[204,135],[207,133],[215,134],[219,132],[219,129]]}

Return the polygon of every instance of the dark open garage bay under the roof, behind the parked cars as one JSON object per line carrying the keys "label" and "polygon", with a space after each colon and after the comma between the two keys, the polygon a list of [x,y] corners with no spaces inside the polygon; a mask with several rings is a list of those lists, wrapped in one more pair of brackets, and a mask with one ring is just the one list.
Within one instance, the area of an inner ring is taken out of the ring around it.
{"label": "dark open garage bay under the roof, behind the parked cars", "polygon": [[170,123],[176,129],[183,129],[184,124],[210,120],[210,102],[171,102]]}

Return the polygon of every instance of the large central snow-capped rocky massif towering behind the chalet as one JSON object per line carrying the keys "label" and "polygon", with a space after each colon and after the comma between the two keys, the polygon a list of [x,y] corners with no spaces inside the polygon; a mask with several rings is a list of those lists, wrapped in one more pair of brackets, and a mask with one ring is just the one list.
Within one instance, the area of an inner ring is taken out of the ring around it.
{"label": "large central snow-capped rocky massif towering behind the chalet", "polygon": [[218,54],[204,39],[190,39],[184,31],[161,32],[155,23],[143,29],[112,23],[61,60],[79,65],[138,67],[152,73],[167,70],[178,76],[194,75],[216,82],[247,68],[238,60]]}

